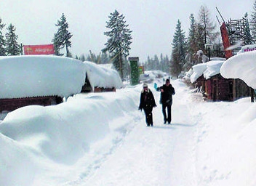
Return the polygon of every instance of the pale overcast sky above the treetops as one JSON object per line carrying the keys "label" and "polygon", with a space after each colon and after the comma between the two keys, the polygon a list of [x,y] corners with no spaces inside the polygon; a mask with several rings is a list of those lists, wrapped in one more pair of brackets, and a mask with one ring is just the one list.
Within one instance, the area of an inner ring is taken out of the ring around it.
{"label": "pale overcast sky above the treetops", "polygon": [[[116,9],[129,24],[132,31],[130,57],[140,57],[140,62],[148,55],[170,56],[171,43],[177,20],[187,36],[190,24],[189,16],[193,13],[196,20],[201,5],[207,6],[212,21],[219,17],[216,7],[223,18],[241,19],[245,12],[253,12],[255,0],[7,0],[0,1],[2,23],[15,25],[18,41],[26,44],[50,44],[55,24],[64,13],[69,24],[71,53],[73,56],[89,54],[89,50],[99,54],[107,37],[106,21]],[[6,29],[4,29],[5,33]]]}

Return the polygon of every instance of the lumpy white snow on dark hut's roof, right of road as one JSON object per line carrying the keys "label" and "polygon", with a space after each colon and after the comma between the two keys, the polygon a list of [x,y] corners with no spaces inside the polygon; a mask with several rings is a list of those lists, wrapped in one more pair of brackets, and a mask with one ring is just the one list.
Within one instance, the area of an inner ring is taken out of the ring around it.
{"label": "lumpy white snow on dark hut's roof, right of road", "polygon": [[212,76],[220,73],[220,68],[223,65],[223,60],[212,60],[205,63],[193,65],[193,73],[191,74],[191,83],[194,83],[196,79],[204,75],[204,78],[209,79]]}

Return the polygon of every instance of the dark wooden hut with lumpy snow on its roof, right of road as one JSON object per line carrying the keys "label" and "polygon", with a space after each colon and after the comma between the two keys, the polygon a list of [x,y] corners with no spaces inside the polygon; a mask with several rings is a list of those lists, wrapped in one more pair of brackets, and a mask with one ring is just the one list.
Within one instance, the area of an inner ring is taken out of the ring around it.
{"label": "dark wooden hut with lumpy snow on its roof, right of road", "polygon": [[207,100],[233,101],[249,96],[249,87],[244,81],[220,75],[223,63],[223,60],[213,60],[194,65],[191,83],[201,88]]}

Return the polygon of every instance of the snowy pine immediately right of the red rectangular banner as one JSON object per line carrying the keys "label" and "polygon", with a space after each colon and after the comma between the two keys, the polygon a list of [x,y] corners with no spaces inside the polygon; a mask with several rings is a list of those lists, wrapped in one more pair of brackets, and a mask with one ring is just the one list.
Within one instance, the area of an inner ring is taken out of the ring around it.
{"label": "snowy pine immediately right of the red rectangular banner", "polygon": [[65,47],[66,57],[72,57],[68,48],[71,47],[70,39],[73,35],[68,31],[68,23],[64,14],[61,15],[60,20],[57,20],[56,26],[58,27],[58,30],[52,40],[55,45],[55,54],[63,55],[60,54],[60,49]]}

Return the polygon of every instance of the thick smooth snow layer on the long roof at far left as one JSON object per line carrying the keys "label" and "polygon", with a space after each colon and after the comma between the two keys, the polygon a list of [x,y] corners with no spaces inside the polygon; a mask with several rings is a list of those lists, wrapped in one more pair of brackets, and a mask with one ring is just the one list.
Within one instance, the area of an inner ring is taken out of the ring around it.
{"label": "thick smooth snow layer on the long roof at far left", "polygon": [[68,57],[27,55],[0,57],[0,99],[81,92],[83,62]]}

